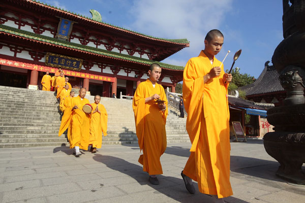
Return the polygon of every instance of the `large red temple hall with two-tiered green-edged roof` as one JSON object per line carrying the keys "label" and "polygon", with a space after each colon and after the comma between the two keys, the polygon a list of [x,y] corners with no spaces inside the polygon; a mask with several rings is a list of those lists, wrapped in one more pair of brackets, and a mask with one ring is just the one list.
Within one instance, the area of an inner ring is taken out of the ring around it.
{"label": "large red temple hall with two-tiered green-edged roof", "polygon": [[60,67],[74,88],[105,97],[133,95],[149,65],[162,67],[159,84],[175,92],[183,66],[163,59],[189,47],[187,39],[161,39],[33,0],[3,0],[0,11],[0,85],[40,87]]}

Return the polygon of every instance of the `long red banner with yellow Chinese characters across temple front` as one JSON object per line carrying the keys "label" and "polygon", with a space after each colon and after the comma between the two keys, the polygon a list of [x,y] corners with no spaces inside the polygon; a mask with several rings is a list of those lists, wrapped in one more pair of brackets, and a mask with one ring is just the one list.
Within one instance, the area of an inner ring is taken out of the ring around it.
{"label": "long red banner with yellow Chinese characters across temple front", "polygon": [[[14,61],[14,60],[8,60],[4,58],[0,58],[0,64],[1,65],[7,65],[12,67],[19,67],[20,69],[28,69],[28,70],[36,70],[41,72],[49,72],[49,73],[55,73],[58,69],[55,67],[49,67],[44,65],[36,65],[32,63],[24,63],[20,61]],[[77,71],[70,71],[70,70],[64,70],[63,72],[65,76],[73,76],[78,78],[88,78],[88,79],[94,79],[94,80],[101,80],[101,81],[107,81],[107,82],[114,82],[114,78],[112,77],[106,77],[106,76],[100,76],[100,75],[94,75],[94,74],[88,74],[88,73],[81,73]]]}

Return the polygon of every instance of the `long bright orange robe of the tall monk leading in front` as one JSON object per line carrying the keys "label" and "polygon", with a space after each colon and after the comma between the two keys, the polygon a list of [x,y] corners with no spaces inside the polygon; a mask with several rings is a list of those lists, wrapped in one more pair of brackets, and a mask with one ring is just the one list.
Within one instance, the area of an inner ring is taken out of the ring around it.
{"label": "long bright orange robe of the tall monk leading in front", "polygon": [[233,194],[230,184],[230,115],[223,66],[220,76],[207,83],[203,81],[203,76],[220,64],[215,57],[211,64],[201,51],[185,67],[182,91],[192,147],[183,172],[198,182],[201,193],[222,198]]}

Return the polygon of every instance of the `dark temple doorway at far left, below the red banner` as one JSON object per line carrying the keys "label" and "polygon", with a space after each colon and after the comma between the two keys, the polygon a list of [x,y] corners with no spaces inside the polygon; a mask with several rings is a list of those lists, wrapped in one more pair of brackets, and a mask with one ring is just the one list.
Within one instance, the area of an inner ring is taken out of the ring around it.
{"label": "dark temple doorway at far left, below the red banner", "polygon": [[9,87],[27,88],[27,75],[0,72],[0,85]]}

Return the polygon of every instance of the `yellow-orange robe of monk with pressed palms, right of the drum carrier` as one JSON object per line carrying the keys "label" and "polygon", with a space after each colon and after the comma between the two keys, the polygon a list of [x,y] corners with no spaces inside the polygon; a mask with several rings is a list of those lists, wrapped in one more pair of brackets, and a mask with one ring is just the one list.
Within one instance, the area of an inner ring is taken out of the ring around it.
{"label": "yellow-orange robe of monk with pressed palms, right of the drum carrier", "polygon": [[[93,107],[92,112],[97,108],[97,104],[91,104]],[[107,111],[102,104],[99,105],[99,112],[95,112],[91,114],[91,124],[90,124],[90,139],[89,145],[92,144],[92,147],[101,148],[102,147],[102,134],[107,136],[107,121],[108,114]]]}

